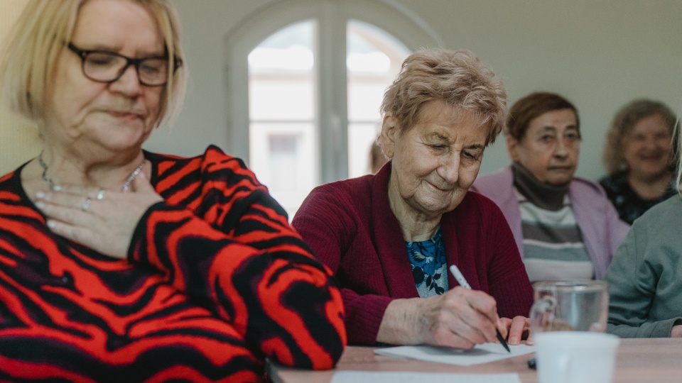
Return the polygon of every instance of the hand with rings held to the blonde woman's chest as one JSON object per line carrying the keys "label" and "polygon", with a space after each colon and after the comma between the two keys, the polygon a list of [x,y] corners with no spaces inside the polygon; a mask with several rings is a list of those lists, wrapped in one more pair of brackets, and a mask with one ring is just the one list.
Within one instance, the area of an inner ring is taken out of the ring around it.
{"label": "hand with rings held to the blonde woman's chest", "polygon": [[140,218],[159,201],[163,198],[144,172],[125,192],[65,185],[36,194],[36,206],[48,217],[53,233],[121,259],[127,255]]}

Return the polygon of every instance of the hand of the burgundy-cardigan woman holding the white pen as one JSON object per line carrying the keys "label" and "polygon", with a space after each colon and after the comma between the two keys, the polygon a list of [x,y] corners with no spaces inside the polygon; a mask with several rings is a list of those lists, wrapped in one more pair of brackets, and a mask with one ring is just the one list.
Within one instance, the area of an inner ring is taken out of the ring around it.
{"label": "hand of the burgundy-cardigan woman holding the white pen", "polygon": [[495,342],[496,329],[507,334],[507,326],[497,316],[495,299],[485,292],[455,287],[443,295],[391,301],[377,342],[469,349]]}

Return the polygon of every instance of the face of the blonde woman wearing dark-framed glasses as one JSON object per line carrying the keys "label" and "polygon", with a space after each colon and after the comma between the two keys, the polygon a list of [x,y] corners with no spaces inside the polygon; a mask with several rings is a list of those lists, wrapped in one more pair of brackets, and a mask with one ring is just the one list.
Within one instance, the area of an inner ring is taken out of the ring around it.
{"label": "face of the blonde woman wearing dark-framed glasses", "polygon": [[[166,53],[155,18],[133,1],[86,1],[71,43],[127,57]],[[88,79],[81,65],[77,54],[63,48],[45,93],[48,142],[85,143],[109,152],[139,148],[156,123],[163,87],[141,85],[134,65],[111,83]]]}

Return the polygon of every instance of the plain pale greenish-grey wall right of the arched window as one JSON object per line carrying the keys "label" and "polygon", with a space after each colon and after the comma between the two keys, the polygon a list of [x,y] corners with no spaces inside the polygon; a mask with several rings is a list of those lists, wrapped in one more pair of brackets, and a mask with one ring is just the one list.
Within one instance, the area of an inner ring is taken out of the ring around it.
{"label": "plain pale greenish-grey wall right of the arched window", "polygon": [[[428,20],[447,48],[468,48],[491,65],[507,84],[511,102],[535,90],[573,101],[583,133],[578,167],[583,177],[603,174],[605,131],[620,106],[636,97],[659,99],[676,113],[682,105],[682,1],[400,3]],[[507,162],[500,137],[487,150],[481,172]]]}

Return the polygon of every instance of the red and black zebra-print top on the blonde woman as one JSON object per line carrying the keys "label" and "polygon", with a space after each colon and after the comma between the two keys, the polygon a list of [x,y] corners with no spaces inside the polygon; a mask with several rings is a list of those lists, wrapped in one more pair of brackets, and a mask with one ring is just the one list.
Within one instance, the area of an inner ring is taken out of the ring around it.
{"label": "red and black zebra-print top on the blonde woman", "polygon": [[0,380],[257,382],[266,357],[333,367],[340,292],[266,187],[215,147],[145,156],[165,201],[128,260],[48,231],[22,167],[0,178]]}

